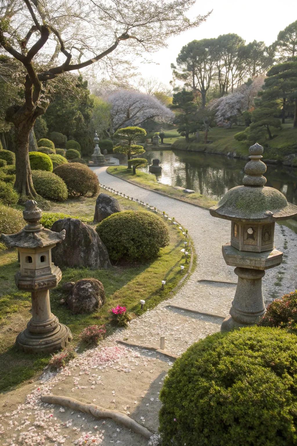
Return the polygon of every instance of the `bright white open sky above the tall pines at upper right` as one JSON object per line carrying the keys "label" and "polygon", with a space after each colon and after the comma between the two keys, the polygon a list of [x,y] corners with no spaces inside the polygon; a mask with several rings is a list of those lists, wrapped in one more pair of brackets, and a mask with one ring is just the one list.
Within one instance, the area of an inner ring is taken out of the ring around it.
{"label": "bright white open sky above the tall pines at upper right", "polygon": [[198,28],[171,37],[167,48],[152,54],[153,60],[158,61],[159,65],[139,61],[138,70],[141,76],[158,78],[169,84],[170,64],[175,63],[182,46],[188,42],[236,33],[246,43],[256,39],[270,45],[277,39],[279,31],[297,20],[296,0],[197,0],[187,16],[203,15],[212,9],[210,17]]}

